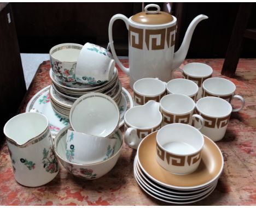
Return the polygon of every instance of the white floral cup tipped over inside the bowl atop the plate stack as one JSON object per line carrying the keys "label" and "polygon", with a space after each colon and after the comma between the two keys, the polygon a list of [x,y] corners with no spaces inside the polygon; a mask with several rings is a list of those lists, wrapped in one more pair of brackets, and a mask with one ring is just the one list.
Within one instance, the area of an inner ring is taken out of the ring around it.
{"label": "white floral cup tipped over inside the bowl atop the plate stack", "polygon": [[115,60],[109,51],[86,42],[77,60],[75,79],[83,84],[102,84],[111,79],[114,69]]}

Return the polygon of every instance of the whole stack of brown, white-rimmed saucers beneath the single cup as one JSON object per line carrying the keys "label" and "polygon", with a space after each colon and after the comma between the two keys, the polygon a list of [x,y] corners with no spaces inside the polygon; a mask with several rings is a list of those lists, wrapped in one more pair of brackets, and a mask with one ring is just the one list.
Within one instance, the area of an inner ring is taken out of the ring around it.
{"label": "whole stack of brown, white-rimmed saucers beneath the single cup", "polygon": [[204,136],[202,160],[194,173],[176,175],[162,168],[155,160],[156,132],[145,137],[138,147],[134,175],[138,185],[150,196],[173,204],[189,204],[210,195],[224,167],[222,152]]}

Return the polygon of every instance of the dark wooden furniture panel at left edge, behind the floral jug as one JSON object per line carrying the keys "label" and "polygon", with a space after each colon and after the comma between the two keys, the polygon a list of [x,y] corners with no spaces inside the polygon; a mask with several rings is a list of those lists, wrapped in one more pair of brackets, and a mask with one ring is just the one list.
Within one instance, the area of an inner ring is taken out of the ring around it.
{"label": "dark wooden furniture panel at left edge, behind the floral jug", "polygon": [[4,6],[0,9],[0,145],[4,124],[17,113],[26,93],[13,12],[10,4]]}

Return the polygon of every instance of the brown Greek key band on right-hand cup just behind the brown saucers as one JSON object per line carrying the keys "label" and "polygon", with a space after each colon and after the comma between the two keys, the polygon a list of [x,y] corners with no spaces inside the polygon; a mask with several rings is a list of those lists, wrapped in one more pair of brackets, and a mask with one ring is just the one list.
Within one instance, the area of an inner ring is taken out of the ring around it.
{"label": "brown Greek key band on right-hand cup just behind the brown saucers", "polygon": [[[201,115],[201,117],[205,119],[205,127],[208,127],[211,129],[214,129],[216,126],[219,129],[219,128],[227,126],[229,123],[230,115],[223,117],[223,118],[212,118],[212,117],[207,117],[206,115],[203,115],[202,113],[200,113],[197,110],[196,110],[196,113]],[[195,119],[197,122],[199,121],[198,118],[195,118]]]}

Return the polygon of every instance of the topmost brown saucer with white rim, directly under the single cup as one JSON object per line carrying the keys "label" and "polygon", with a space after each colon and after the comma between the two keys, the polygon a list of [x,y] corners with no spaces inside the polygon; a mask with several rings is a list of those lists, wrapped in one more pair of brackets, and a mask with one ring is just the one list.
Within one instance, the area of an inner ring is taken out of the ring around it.
{"label": "topmost brown saucer with white rim, directly under the single cup", "polygon": [[202,159],[196,171],[187,175],[176,175],[162,168],[155,159],[156,133],[150,133],[145,137],[137,151],[139,167],[150,179],[173,189],[197,189],[218,180],[224,160],[222,152],[210,138],[204,136]]}

